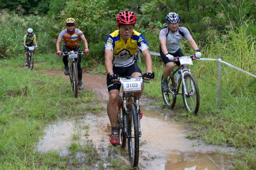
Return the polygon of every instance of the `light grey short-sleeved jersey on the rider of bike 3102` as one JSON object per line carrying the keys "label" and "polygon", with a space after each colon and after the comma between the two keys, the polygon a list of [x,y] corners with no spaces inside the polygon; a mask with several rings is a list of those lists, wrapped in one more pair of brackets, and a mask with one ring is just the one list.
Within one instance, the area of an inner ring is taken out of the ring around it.
{"label": "light grey short-sleeved jersey on the rider of bike 3102", "polygon": [[[188,40],[189,38],[191,38],[191,34],[189,33],[188,29],[183,27],[183,26],[179,26],[178,29],[173,32],[171,30],[169,30],[168,33],[168,27],[167,25],[164,26],[159,33],[159,40],[166,40],[166,47],[169,53],[175,53],[178,49],[180,49],[180,43],[181,40],[183,38],[183,36]],[[180,30],[180,31],[178,31]],[[183,33],[183,36],[180,34]],[[167,35],[168,34],[168,35]]]}

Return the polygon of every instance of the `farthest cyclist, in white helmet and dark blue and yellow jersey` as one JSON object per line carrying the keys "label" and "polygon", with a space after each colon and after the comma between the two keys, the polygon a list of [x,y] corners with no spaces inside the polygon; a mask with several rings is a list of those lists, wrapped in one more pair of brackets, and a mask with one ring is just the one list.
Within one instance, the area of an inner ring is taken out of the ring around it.
{"label": "farthest cyclist, in white helmet and dark blue and yellow jersey", "polygon": [[[27,30],[28,34],[24,35],[23,37],[23,45],[25,47],[25,66],[28,66],[28,47],[35,47],[37,48],[37,43],[35,40],[35,34],[33,34],[33,29],[32,28],[28,28]],[[35,45],[34,45],[35,42]],[[35,53],[35,50],[33,51],[33,53]]]}

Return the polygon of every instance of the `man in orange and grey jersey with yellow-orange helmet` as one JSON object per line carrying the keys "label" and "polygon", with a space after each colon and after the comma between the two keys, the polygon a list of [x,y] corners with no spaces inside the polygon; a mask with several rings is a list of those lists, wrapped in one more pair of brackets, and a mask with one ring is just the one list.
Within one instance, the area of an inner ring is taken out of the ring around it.
{"label": "man in orange and grey jersey with yellow-orange helmet", "polygon": [[[66,29],[63,29],[59,34],[58,40],[56,42],[57,54],[61,56],[60,43],[62,39],[64,39],[63,43],[63,52],[69,51],[80,51],[79,48],[79,38],[83,41],[85,45],[85,54],[89,52],[88,43],[85,38],[85,35],[78,28],[75,28],[75,20],[73,18],[68,18],[65,21]],[[63,56],[62,58],[64,64],[64,73],[65,75],[69,75],[69,66],[68,66],[68,55]],[[81,68],[81,55],[78,58],[75,58],[78,66],[78,88],[82,90],[82,68]]]}

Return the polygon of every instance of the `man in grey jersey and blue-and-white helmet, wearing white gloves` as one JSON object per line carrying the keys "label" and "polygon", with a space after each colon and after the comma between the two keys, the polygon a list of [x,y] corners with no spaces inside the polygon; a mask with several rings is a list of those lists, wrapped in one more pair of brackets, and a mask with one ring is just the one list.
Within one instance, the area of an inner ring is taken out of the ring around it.
{"label": "man in grey jersey and blue-and-white helmet, wearing white gloves", "polygon": [[[201,57],[201,52],[198,49],[195,40],[189,33],[188,29],[179,24],[180,16],[178,14],[171,12],[166,16],[167,25],[164,26],[159,33],[160,40],[160,55],[164,62],[165,69],[163,71],[163,82],[162,88],[167,91],[169,89],[167,78],[173,70],[174,63],[171,60],[174,57],[184,56],[180,49],[180,43],[183,37],[187,39],[191,47],[195,50],[195,56]],[[180,66],[180,62],[175,62]]]}

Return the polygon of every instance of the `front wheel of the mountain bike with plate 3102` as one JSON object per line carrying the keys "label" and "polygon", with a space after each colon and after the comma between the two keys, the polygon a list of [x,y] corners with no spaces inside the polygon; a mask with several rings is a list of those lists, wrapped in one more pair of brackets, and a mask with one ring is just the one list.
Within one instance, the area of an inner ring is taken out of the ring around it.
{"label": "front wheel of the mountain bike with plate 3102", "polygon": [[183,102],[188,112],[196,114],[199,109],[199,90],[195,78],[191,74],[184,76],[187,88],[187,95],[184,93],[182,86]]}

